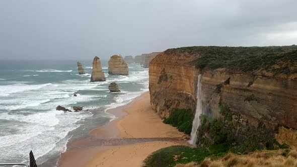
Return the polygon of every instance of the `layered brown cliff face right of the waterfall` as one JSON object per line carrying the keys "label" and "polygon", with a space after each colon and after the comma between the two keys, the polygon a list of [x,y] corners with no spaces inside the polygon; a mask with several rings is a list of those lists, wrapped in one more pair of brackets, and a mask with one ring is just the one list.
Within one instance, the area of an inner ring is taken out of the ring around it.
{"label": "layered brown cliff face right of the waterfall", "polygon": [[264,123],[271,128],[297,128],[296,79],[215,70],[202,73],[201,88],[207,115],[218,118],[221,103],[241,113],[254,126]]}

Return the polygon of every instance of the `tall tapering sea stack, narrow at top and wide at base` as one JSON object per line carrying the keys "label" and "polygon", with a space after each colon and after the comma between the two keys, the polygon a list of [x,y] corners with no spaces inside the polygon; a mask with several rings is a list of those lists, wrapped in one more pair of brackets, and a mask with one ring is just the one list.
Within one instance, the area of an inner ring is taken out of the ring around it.
{"label": "tall tapering sea stack, narrow at top and wide at base", "polygon": [[95,57],[93,60],[93,72],[91,75],[91,82],[97,82],[97,81],[105,81],[105,75],[102,71],[101,61],[99,57]]}

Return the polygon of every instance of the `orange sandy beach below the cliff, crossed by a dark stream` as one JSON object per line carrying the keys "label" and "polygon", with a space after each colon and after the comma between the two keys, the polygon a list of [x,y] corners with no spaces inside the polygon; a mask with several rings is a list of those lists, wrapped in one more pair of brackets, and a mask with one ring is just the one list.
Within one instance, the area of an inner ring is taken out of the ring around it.
{"label": "orange sandy beach below the cliff, crossed by a dark stream", "polygon": [[59,166],[141,166],[158,149],[189,145],[183,140],[184,133],[162,122],[150,105],[148,92],[107,112],[117,119],[68,143]]}

